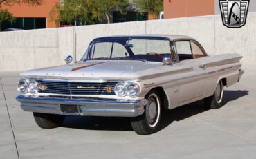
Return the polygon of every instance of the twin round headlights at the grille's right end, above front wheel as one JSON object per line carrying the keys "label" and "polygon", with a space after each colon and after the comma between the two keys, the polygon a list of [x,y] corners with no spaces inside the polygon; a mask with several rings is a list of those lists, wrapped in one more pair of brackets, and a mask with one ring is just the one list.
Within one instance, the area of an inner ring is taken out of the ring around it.
{"label": "twin round headlights at the grille's right end, above front wheel", "polygon": [[115,93],[119,97],[138,97],[140,95],[140,85],[134,82],[120,82],[115,86]]}

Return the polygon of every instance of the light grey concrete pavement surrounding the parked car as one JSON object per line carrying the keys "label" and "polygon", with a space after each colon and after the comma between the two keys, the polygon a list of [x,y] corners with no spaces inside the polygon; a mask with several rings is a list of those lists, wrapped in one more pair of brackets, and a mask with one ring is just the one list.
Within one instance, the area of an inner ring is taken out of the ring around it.
{"label": "light grey concrete pavement surrounding the parked car", "polygon": [[226,88],[221,109],[168,111],[162,129],[136,135],[128,118],[68,117],[40,129],[15,97],[17,72],[0,72],[0,158],[256,158],[256,65]]}

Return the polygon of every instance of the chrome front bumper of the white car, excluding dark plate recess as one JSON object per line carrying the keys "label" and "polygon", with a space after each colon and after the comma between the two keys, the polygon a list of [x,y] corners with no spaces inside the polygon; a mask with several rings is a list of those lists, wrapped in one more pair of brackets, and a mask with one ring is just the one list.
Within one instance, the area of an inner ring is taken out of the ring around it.
{"label": "chrome front bumper of the white car, excluding dark plate recess", "polygon": [[[21,102],[21,109],[37,113],[60,115],[85,115],[109,117],[136,117],[144,113],[147,100],[84,100],[55,97],[26,97],[16,98]],[[77,106],[78,113],[62,112],[61,106]]]}

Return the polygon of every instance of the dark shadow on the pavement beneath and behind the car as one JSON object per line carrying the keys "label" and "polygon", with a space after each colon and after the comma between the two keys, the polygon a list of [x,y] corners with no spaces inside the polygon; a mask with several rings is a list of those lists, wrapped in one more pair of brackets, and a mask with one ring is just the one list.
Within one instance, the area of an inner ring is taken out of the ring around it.
{"label": "dark shadow on the pavement beneath and behind the car", "polygon": [[[248,91],[224,91],[223,105],[248,95]],[[210,109],[205,108],[203,100],[193,102],[163,113],[160,130],[174,121],[181,121]],[[62,127],[88,130],[133,131],[129,118],[67,116]]]}

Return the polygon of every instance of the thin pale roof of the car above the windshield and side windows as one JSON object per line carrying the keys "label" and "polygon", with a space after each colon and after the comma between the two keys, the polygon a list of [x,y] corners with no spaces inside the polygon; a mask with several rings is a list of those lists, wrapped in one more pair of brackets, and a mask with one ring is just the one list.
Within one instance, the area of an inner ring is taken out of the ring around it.
{"label": "thin pale roof of the car above the windshield and side windows", "polygon": [[109,36],[109,37],[100,37],[97,39],[101,38],[114,38],[114,37],[160,37],[160,38],[165,38],[165,39],[170,39],[172,41],[176,39],[194,39],[192,37],[186,36],[186,35],[161,35],[161,34],[144,34],[144,35],[114,35],[114,36]]}

